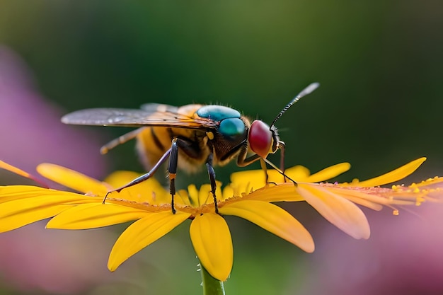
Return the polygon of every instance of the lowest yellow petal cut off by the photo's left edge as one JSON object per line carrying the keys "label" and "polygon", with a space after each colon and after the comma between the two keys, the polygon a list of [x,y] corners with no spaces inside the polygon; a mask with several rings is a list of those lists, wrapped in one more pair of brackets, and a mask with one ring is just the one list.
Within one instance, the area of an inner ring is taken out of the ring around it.
{"label": "lowest yellow petal cut off by the photo's left edge", "polygon": [[47,219],[84,202],[96,202],[96,199],[72,192],[47,189],[34,192],[33,195],[29,193],[25,198],[3,202],[0,204],[0,232]]}

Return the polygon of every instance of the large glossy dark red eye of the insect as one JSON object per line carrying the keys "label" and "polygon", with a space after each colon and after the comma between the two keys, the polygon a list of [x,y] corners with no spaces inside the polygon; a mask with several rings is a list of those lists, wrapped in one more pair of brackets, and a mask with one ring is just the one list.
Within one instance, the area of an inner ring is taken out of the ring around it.
{"label": "large glossy dark red eye of the insect", "polygon": [[248,140],[252,151],[258,156],[266,158],[271,149],[272,132],[265,122],[257,120],[252,122]]}

